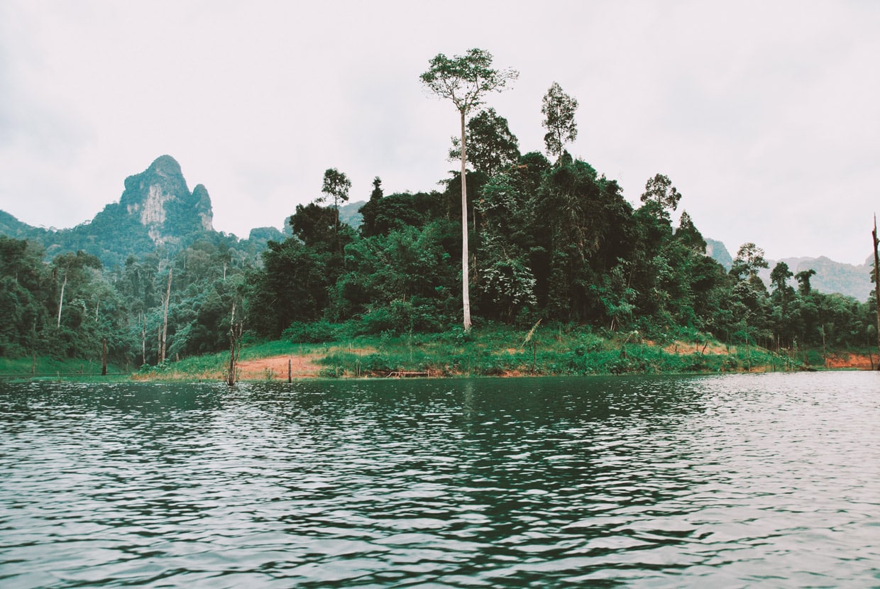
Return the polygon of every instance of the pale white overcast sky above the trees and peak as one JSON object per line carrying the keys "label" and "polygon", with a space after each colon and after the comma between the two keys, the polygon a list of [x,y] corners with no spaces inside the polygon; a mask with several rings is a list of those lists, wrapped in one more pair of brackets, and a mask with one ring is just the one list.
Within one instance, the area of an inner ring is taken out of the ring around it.
{"label": "pale white overcast sky above the trees and peak", "polygon": [[513,67],[489,98],[542,150],[554,82],[569,148],[638,202],[670,176],[704,235],[862,263],[880,195],[872,0],[323,3],[0,0],[0,210],[69,227],[170,154],[217,230],[281,227],[324,170],[351,199],[437,188],[458,127],[423,90],[437,53]]}

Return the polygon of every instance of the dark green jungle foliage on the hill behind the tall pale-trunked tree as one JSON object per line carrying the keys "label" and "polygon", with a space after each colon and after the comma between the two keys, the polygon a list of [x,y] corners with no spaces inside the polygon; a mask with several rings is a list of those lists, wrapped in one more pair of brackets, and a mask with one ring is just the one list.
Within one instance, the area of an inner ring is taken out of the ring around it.
{"label": "dark green jungle foliage on the hill behind the tall pale-trunked tree", "polygon": [[[578,324],[668,338],[694,331],[722,342],[862,347],[874,307],[813,291],[810,272],[784,262],[772,283],[759,247],[739,248],[730,272],[704,254],[680,195],[650,179],[634,208],[589,164],[551,164],[532,152],[472,183],[475,321],[527,331]],[[363,225],[337,231],[334,207],[297,207],[294,236],[272,242],[245,283],[248,324],[260,337],[329,341],[360,334],[439,332],[460,323],[458,176],[442,193],[382,195],[375,181]],[[869,276],[865,276],[866,282]]]}

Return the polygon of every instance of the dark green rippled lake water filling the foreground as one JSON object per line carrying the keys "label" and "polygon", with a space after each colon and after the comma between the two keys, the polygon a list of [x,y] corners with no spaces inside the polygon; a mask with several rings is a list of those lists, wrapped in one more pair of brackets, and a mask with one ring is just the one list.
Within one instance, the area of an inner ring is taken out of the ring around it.
{"label": "dark green rippled lake water filling the foreground", "polygon": [[880,374],[0,384],[0,586],[880,585]]}

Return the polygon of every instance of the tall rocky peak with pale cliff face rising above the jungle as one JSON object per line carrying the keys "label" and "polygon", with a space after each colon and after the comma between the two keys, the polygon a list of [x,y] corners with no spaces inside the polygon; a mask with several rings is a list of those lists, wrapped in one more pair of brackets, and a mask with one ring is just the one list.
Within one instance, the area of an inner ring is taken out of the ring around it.
{"label": "tall rocky peak with pale cliff face rising above the jungle", "polygon": [[171,156],[157,158],[142,173],[128,176],[119,206],[143,225],[157,246],[178,243],[194,231],[214,231],[208,190],[199,184],[190,192],[180,164]]}

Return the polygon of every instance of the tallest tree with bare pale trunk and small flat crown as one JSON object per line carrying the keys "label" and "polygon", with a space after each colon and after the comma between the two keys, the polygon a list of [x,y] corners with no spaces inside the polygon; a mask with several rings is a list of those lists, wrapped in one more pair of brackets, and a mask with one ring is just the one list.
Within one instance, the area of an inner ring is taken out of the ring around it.
{"label": "tallest tree with bare pale trunk and small flat crown", "polygon": [[492,67],[492,54],[484,49],[473,48],[465,55],[451,58],[437,54],[429,62],[428,71],[420,79],[429,91],[440,98],[450,99],[458,109],[461,128],[461,294],[464,327],[471,329],[471,298],[468,289],[467,249],[467,161],[466,118],[473,109],[483,103],[487,92],[501,92],[519,77],[517,70],[496,70]]}

